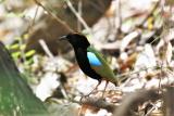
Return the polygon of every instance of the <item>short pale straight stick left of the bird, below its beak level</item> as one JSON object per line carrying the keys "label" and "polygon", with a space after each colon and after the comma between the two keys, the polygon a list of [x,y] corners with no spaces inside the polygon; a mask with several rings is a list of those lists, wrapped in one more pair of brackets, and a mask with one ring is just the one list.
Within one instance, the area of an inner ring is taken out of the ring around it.
{"label": "short pale straight stick left of the bird, below its beak level", "polygon": [[39,40],[39,43],[40,46],[42,47],[44,51],[46,52],[46,54],[49,56],[49,57],[53,57],[52,53],[50,52],[49,48],[47,47],[45,40],[40,39]]}

